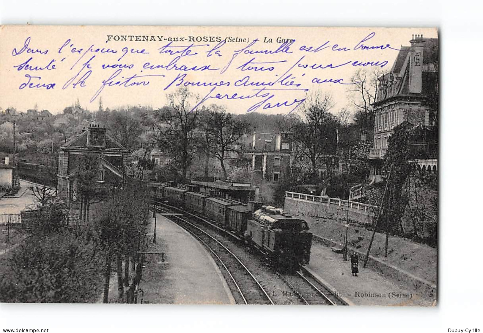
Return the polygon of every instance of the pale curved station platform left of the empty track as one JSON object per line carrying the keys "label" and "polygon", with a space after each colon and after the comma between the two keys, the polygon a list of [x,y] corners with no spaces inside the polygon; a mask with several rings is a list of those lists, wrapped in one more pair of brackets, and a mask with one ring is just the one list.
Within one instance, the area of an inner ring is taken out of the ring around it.
{"label": "pale curved station platform left of the empty track", "polygon": [[156,244],[152,243],[154,218],[148,226],[149,248],[139,288],[138,303],[235,304],[225,278],[208,251],[191,234],[161,214],[156,220]]}

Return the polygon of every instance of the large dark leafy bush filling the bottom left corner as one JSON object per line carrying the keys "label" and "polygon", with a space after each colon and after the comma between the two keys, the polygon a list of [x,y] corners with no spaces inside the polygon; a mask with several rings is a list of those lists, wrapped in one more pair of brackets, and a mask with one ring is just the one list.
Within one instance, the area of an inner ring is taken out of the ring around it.
{"label": "large dark leafy bush filling the bottom left corner", "polygon": [[102,262],[85,234],[31,236],[15,249],[0,282],[1,302],[92,303],[102,289]]}

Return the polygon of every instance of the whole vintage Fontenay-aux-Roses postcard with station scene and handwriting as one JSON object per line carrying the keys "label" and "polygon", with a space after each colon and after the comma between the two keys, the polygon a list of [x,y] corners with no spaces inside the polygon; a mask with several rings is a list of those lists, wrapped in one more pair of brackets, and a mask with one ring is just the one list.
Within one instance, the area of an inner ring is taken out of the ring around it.
{"label": "whole vintage Fontenay-aux-Roses postcard with station scene and handwriting", "polygon": [[1,302],[437,304],[436,28],[0,44]]}

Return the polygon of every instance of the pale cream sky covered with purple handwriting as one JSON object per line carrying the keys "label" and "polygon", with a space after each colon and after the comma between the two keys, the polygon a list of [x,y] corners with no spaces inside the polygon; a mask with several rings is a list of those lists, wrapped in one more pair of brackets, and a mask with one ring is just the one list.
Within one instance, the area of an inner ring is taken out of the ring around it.
{"label": "pale cream sky covered with purple handwriting", "polygon": [[[58,114],[79,100],[94,111],[102,98],[104,108],[157,108],[177,84],[187,84],[203,100],[199,105],[221,104],[235,114],[289,114],[316,90],[332,95],[336,113],[349,103],[350,78],[362,68],[354,65],[373,62],[372,68],[389,71],[397,49],[410,45],[413,34],[438,37],[430,28],[4,27],[0,107],[25,112],[37,106]],[[169,39],[176,37],[185,41]],[[225,43],[214,49],[220,40]],[[197,70],[183,70],[193,67]],[[273,84],[257,91],[262,87],[248,82]],[[250,98],[229,98],[235,93]]]}

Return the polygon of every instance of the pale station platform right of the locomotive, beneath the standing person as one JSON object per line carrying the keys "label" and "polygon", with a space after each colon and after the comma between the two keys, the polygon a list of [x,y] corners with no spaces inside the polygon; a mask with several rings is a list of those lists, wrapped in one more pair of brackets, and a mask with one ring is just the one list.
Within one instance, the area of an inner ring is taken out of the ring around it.
{"label": "pale station platform right of the locomotive, beneath the standing person", "polygon": [[349,305],[380,306],[431,306],[433,300],[404,289],[385,276],[362,267],[359,259],[359,273],[352,276],[351,261],[348,253],[347,261],[343,254],[335,253],[329,247],[318,242],[312,243],[310,263],[304,267],[307,271]]}

